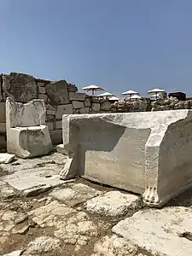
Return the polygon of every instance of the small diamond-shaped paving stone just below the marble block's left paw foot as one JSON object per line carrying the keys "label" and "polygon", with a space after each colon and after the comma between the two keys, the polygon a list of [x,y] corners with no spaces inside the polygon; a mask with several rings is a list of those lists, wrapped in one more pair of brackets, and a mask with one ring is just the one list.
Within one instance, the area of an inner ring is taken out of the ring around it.
{"label": "small diamond-shaped paving stone just below the marble block's left paw foot", "polygon": [[102,192],[97,189],[90,188],[83,183],[78,183],[73,184],[70,188],[55,189],[49,195],[73,207],[101,194]]}

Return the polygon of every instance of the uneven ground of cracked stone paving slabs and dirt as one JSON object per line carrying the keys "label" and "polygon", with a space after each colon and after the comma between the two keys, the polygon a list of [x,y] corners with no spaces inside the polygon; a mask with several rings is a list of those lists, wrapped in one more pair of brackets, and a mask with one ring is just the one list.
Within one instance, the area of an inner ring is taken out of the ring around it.
{"label": "uneven ground of cracked stone paving slabs and dirt", "polygon": [[0,165],[0,255],[191,256],[192,191],[163,209],[77,178],[59,179],[66,156]]}

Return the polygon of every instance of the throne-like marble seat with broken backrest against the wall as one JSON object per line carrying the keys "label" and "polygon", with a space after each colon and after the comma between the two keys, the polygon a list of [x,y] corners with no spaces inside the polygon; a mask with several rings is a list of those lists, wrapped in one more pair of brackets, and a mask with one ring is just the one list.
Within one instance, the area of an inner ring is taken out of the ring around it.
{"label": "throne-like marble seat with broken backrest against the wall", "polygon": [[21,158],[48,154],[52,149],[48,126],[45,125],[46,109],[43,100],[26,104],[6,101],[6,130],[8,153]]}

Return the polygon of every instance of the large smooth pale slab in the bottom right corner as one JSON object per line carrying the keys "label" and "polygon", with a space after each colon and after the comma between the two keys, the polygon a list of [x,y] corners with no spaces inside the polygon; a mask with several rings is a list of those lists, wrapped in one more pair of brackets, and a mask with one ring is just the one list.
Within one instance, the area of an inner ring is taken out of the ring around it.
{"label": "large smooth pale slab in the bottom right corner", "polygon": [[192,255],[192,208],[139,211],[116,224],[113,232],[152,255]]}

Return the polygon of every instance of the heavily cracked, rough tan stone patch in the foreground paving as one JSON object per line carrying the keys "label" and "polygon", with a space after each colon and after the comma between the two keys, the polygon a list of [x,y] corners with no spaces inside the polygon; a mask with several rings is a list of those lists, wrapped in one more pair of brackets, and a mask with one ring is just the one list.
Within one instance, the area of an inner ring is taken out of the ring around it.
{"label": "heavily cracked, rough tan stone patch in the foreground paving", "polygon": [[98,236],[99,229],[108,226],[102,221],[95,224],[87,213],[77,212],[58,201],[32,210],[29,215],[41,228],[55,227],[55,237],[79,247],[86,245],[91,237]]}

